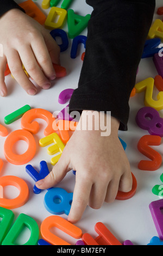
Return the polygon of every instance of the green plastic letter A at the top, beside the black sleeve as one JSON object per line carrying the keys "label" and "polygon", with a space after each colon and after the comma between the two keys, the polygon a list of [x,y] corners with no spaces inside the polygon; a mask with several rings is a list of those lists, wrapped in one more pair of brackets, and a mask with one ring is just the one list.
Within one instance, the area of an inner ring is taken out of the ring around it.
{"label": "green plastic letter A at the top, beside the black sleeve", "polygon": [[91,15],[80,16],[75,14],[72,9],[68,10],[67,25],[68,25],[68,36],[69,38],[75,38],[79,35],[86,27],[90,20]]}

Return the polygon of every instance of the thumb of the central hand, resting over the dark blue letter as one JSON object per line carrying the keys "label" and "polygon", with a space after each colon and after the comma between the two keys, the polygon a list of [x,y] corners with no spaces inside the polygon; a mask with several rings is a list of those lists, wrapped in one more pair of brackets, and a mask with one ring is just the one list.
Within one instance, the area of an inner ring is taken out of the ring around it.
{"label": "thumb of the central hand, resting over the dark blue letter", "polygon": [[[62,153],[63,154],[63,153]],[[55,164],[52,171],[42,180],[38,180],[35,185],[41,190],[46,190],[49,187],[57,185],[64,177],[66,173],[71,170],[68,168],[68,162],[65,161],[66,157],[60,157],[58,163]]]}

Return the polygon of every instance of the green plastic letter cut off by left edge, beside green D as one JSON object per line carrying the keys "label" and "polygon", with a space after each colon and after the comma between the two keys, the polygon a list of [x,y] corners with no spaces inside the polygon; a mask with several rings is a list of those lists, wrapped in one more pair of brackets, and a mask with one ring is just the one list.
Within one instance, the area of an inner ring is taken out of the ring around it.
{"label": "green plastic letter cut off by left edge, beside green D", "polygon": [[8,233],[8,230],[12,224],[12,221],[14,220],[14,214],[11,210],[0,207],[0,217],[2,218],[2,221],[0,222],[0,230],[1,230],[0,245],[1,245],[4,237]]}

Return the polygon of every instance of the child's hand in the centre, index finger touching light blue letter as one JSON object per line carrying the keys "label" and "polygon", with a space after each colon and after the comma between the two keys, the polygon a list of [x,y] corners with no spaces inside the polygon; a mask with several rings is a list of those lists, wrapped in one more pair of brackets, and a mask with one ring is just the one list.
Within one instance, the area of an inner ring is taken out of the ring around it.
{"label": "child's hand in the centre, index finger touching light blue letter", "polygon": [[46,189],[57,185],[69,170],[76,170],[68,221],[79,221],[87,204],[99,209],[104,201],[113,202],[118,190],[131,190],[130,165],[118,139],[118,127],[119,122],[111,118],[111,135],[108,137],[102,137],[100,130],[74,131],[52,172],[36,182],[37,187]]}

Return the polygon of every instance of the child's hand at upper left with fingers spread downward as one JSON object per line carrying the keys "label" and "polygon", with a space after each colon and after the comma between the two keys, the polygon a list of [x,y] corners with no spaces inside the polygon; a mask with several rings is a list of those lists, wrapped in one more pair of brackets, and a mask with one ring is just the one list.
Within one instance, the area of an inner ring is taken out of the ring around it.
{"label": "child's hand at upper left with fingers spread downward", "polygon": [[[21,10],[12,9],[0,18],[0,95],[7,95],[4,71],[8,63],[11,74],[30,95],[37,91],[22,69],[28,72],[42,89],[51,86],[55,78],[53,64],[59,64],[60,48],[46,29]],[[41,67],[41,69],[40,69]]]}

